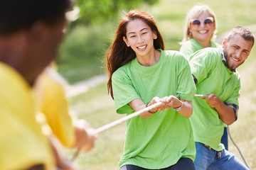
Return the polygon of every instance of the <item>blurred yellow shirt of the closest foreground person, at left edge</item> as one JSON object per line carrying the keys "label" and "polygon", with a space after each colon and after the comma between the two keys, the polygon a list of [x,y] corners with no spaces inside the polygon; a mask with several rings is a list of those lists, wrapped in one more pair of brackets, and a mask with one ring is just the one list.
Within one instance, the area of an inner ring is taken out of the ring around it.
{"label": "blurred yellow shirt of the closest foreground person, at left edge", "polygon": [[26,169],[36,164],[54,169],[48,137],[36,121],[31,87],[1,62],[0,79],[0,169]]}

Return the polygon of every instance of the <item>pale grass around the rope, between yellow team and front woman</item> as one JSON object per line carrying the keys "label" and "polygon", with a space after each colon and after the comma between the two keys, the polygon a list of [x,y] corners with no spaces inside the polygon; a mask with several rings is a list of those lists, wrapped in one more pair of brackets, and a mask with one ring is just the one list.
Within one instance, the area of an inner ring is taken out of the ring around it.
{"label": "pale grass around the rope, between yellow team and front woman", "polygon": [[[107,95],[106,84],[73,98],[72,108],[79,118],[85,118],[94,128],[100,128],[124,116],[115,113],[114,101]],[[118,169],[124,134],[124,123],[102,132],[95,143],[95,148],[87,154],[80,154],[76,160],[80,169]],[[67,154],[71,157],[73,151],[68,151]]]}

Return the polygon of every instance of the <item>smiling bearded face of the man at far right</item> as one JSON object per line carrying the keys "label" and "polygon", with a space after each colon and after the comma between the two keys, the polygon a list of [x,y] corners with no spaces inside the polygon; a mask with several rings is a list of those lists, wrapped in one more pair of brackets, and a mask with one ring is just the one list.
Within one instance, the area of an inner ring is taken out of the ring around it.
{"label": "smiling bearded face of the man at far right", "polygon": [[227,41],[227,38],[223,40],[223,50],[228,69],[236,69],[250,55],[252,42],[245,40],[241,35],[235,34],[230,40]]}

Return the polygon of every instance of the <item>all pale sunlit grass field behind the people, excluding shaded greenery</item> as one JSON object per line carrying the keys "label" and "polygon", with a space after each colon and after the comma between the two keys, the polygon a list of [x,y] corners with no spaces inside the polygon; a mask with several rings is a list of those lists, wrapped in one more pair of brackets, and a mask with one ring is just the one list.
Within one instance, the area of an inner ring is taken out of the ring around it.
{"label": "all pale sunlit grass field behind the people, excluding shaded greenery", "polygon": [[[226,33],[235,26],[251,26],[256,24],[255,0],[200,1],[208,4],[215,11],[218,19],[218,35]],[[138,9],[151,13],[158,24],[166,42],[166,50],[178,50],[178,42],[182,39],[183,22],[186,12],[197,1],[161,0],[155,6],[141,6]],[[110,28],[114,32],[114,28]],[[110,30],[106,30],[109,33]],[[255,32],[256,33],[256,32]],[[110,33],[113,36],[113,33]],[[112,37],[109,38],[112,40]],[[102,42],[105,43],[105,42]],[[89,46],[89,45],[88,45]],[[85,45],[85,48],[87,46]],[[88,47],[90,48],[90,47]],[[104,52],[103,52],[104,53]],[[240,147],[251,169],[256,169],[256,47],[253,47],[250,58],[238,69],[241,74],[241,97],[238,120],[230,125],[230,132]],[[107,95],[106,84],[90,89],[85,94],[71,98],[71,107],[79,118],[85,118],[94,128],[122,118],[114,110],[114,102]],[[78,169],[117,170],[119,158],[124,145],[125,123],[100,133],[94,149],[80,154],[75,163]],[[230,152],[240,158],[235,146],[230,142]],[[67,157],[72,157],[74,150],[65,149]],[[241,159],[242,160],[242,159]]]}

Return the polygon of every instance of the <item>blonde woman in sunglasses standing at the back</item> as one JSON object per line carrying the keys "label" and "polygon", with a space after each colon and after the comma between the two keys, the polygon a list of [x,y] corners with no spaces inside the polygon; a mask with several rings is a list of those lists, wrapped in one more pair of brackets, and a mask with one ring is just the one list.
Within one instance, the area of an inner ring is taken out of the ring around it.
{"label": "blonde woman in sunglasses standing at the back", "polygon": [[221,47],[213,42],[217,33],[215,13],[206,5],[196,5],[186,16],[180,52],[187,59],[205,47]]}

